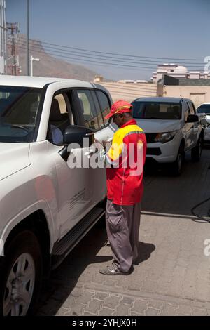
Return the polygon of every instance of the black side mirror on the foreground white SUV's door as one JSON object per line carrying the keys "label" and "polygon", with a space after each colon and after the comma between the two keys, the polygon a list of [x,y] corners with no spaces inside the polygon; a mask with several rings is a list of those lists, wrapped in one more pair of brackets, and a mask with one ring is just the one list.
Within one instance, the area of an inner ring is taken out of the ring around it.
{"label": "black side mirror on the foreground white SUV's door", "polygon": [[70,125],[66,127],[64,132],[64,147],[67,147],[70,143],[78,143],[81,148],[90,147],[94,143],[94,133],[90,128]]}

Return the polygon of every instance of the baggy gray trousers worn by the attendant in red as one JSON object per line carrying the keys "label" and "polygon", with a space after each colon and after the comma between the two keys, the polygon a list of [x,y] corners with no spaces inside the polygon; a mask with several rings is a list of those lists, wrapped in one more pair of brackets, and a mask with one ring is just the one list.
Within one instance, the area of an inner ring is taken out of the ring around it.
{"label": "baggy gray trousers worn by the attendant in red", "polygon": [[138,258],[141,203],[113,204],[107,199],[106,232],[119,270],[128,272]]}

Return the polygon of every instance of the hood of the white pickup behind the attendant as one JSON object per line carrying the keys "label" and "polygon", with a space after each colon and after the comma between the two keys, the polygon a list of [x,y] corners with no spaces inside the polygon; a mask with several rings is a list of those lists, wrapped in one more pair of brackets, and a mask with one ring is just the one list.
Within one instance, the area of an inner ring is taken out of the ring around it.
{"label": "hood of the white pickup behind the attendant", "polygon": [[165,133],[176,131],[181,128],[181,120],[166,119],[135,119],[137,125],[141,127],[145,133]]}

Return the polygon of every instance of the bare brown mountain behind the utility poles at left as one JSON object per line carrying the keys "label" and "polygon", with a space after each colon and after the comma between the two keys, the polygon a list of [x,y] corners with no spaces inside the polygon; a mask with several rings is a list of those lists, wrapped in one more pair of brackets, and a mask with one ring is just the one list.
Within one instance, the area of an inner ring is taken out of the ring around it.
{"label": "bare brown mountain behind the utility poles at left", "polygon": [[[26,37],[20,34],[18,38],[19,62],[22,67],[21,75],[26,75],[26,57],[27,44]],[[52,51],[53,52],[53,51]],[[50,51],[49,51],[50,53]],[[39,62],[33,61],[33,75],[38,77],[60,77],[69,79],[79,79],[85,81],[93,81],[97,72],[83,67],[83,65],[74,65],[65,60],[59,60],[49,55],[43,48],[41,41],[29,41],[29,58],[30,56],[39,58]]]}

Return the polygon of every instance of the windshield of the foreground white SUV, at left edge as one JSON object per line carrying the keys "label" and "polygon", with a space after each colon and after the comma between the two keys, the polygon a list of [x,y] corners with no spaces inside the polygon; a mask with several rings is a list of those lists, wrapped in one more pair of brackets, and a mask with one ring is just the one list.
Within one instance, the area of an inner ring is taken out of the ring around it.
{"label": "windshield of the foreground white SUV, at left edge", "polygon": [[31,142],[41,88],[0,86],[0,142]]}

